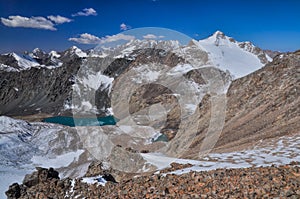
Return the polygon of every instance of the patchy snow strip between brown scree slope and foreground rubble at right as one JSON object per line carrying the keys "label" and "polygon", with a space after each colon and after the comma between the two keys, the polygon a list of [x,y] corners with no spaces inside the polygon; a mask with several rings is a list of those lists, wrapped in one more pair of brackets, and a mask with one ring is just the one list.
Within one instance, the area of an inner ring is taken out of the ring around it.
{"label": "patchy snow strip between brown scree slope and foreground rubble at right", "polygon": [[156,166],[158,170],[169,167],[172,162],[193,165],[189,168],[169,172],[169,174],[178,175],[190,171],[209,171],[218,168],[247,168],[251,166],[260,167],[271,166],[272,164],[284,165],[292,161],[300,161],[299,135],[284,136],[277,141],[269,142],[267,147],[265,147],[265,143],[258,143],[253,149],[230,153],[211,153],[197,161],[172,158],[161,153],[141,155],[148,164]]}

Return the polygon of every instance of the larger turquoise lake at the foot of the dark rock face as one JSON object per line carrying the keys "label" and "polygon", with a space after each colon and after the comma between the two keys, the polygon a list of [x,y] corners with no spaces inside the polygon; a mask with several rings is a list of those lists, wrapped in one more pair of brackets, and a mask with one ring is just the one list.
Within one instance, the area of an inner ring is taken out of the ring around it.
{"label": "larger turquoise lake at the foot of the dark rock face", "polygon": [[114,116],[98,117],[98,118],[73,118],[67,116],[48,117],[43,122],[62,124],[66,126],[104,126],[115,125],[117,120]]}

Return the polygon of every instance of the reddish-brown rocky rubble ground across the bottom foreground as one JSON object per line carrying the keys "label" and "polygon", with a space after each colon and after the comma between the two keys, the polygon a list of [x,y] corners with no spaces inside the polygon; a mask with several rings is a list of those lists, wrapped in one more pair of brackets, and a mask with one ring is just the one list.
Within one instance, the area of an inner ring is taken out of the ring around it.
{"label": "reddish-brown rocky rubble ground across the bottom foreground", "polygon": [[[182,175],[150,174],[118,183],[94,177],[59,180],[58,173],[37,168],[6,195],[16,198],[299,198],[300,168],[296,165],[218,169]],[[180,165],[177,165],[180,168]],[[182,166],[182,165],[181,165]],[[101,179],[101,180],[100,180]],[[98,182],[97,182],[98,181]],[[103,186],[102,182],[106,182]]]}

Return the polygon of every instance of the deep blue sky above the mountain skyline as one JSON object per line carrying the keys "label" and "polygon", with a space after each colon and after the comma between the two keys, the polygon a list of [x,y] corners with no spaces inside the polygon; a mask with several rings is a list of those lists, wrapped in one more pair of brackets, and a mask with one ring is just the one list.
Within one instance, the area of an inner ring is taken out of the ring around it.
{"label": "deep blue sky above the mountain skyline", "polygon": [[169,28],[197,40],[221,30],[263,49],[294,51],[300,49],[299,10],[298,0],[0,0],[0,52],[87,49],[94,45],[78,42],[97,43],[141,27]]}

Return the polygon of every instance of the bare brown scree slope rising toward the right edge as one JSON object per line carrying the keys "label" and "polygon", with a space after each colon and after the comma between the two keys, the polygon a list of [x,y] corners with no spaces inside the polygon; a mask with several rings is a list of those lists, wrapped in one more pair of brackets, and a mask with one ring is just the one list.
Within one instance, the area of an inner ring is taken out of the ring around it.
{"label": "bare brown scree slope rising toward the right edge", "polygon": [[[234,80],[226,94],[224,128],[215,134],[219,139],[213,143],[214,150],[240,150],[267,138],[298,134],[299,66],[298,51],[279,55],[262,69]],[[199,158],[200,146],[209,128],[211,100],[209,95],[203,98],[196,117],[170,142],[169,154]],[[219,109],[224,107],[220,102],[214,105]]]}

